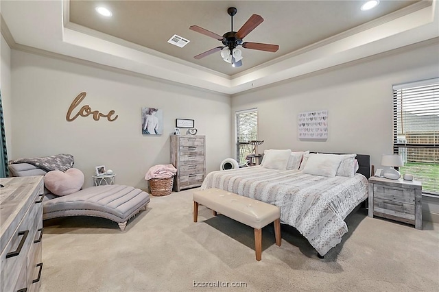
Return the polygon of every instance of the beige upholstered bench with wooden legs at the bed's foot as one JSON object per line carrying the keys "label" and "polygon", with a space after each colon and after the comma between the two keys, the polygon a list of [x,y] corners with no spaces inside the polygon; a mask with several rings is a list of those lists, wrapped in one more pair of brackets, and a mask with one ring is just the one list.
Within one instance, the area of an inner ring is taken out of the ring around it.
{"label": "beige upholstered bench with wooden legs at the bed's foot", "polygon": [[230,193],[219,188],[208,188],[193,192],[193,222],[198,221],[198,205],[207,208],[233,220],[239,221],[254,228],[254,249],[256,259],[262,255],[262,228],[274,222],[276,245],[281,246],[281,211],[278,207]]}

